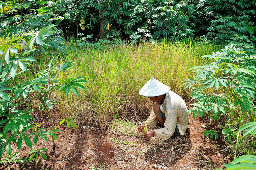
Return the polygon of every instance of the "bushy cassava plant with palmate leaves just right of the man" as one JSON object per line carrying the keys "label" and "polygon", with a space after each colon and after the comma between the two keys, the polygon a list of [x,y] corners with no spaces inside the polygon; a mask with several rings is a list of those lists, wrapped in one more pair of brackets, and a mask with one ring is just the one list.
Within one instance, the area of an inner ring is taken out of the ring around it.
{"label": "bushy cassava plant with palmate leaves just right of the man", "polygon": [[221,51],[205,55],[211,63],[196,66],[197,74],[185,80],[185,88],[192,88],[191,99],[196,100],[193,108],[195,118],[208,113],[211,120],[219,120],[221,114],[232,110],[254,113],[256,55],[252,46],[231,44]]}

